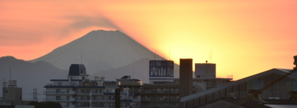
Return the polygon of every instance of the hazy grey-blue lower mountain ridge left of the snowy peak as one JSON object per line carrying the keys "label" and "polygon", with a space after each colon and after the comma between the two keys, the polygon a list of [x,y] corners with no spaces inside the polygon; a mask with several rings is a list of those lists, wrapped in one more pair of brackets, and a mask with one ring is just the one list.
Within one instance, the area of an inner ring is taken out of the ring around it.
{"label": "hazy grey-blue lower mountain ridge left of the snowy peak", "polygon": [[[69,65],[70,66],[70,65]],[[30,100],[32,98],[33,88],[37,88],[37,92],[42,94],[45,90],[43,86],[51,83],[50,79],[67,79],[68,71],[56,68],[45,61],[28,62],[25,60],[16,59],[12,56],[0,57],[0,79],[5,78],[6,81],[10,79],[17,80],[18,87],[23,88],[23,100]],[[2,89],[0,90],[2,95]],[[1,96],[0,96],[1,97]],[[44,97],[43,95],[38,98]]]}

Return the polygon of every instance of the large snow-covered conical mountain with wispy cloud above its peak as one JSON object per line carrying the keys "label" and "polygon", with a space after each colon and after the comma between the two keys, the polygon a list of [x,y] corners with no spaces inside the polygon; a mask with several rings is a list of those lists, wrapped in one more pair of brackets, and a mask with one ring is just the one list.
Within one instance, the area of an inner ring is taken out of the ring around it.
{"label": "large snow-covered conical mountain with wispy cloud above its peak", "polygon": [[[94,30],[30,62],[46,61],[69,70],[71,64],[81,64],[82,60],[87,73],[94,74],[98,68],[99,71],[118,68],[153,56],[154,52],[118,30]],[[162,60],[159,55],[156,57]]]}

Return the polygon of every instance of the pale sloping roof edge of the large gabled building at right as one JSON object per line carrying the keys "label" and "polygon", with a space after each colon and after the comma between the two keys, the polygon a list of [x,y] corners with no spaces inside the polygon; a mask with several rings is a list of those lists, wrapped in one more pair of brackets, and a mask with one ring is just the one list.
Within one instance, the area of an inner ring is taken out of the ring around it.
{"label": "pale sloping roof edge of the large gabled building at right", "polygon": [[[242,82],[246,82],[248,80],[256,79],[256,78],[261,77],[261,76],[266,76],[266,75],[271,74],[271,73],[277,73],[279,75],[285,75],[287,73],[290,73],[290,71],[292,71],[292,69],[273,68],[273,69],[270,69],[268,71],[264,71],[264,72],[261,72],[261,73],[258,73],[258,74],[252,75],[252,76],[245,77],[243,79],[239,79],[237,81],[233,81],[233,82],[223,84],[223,85],[218,86],[218,87],[214,87],[214,88],[211,88],[211,89],[208,89],[208,90],[204,90],[204,91],[201,91],[201,92],[189,95],[189,96],[181,97],[181,102],[188,101],[188,100],[191,100],[191,99],[194,99],[196,97],[200,97],[200,96],[203,96],[203,95],[206,95],[206,94],[209,94],[209,93],[213,93],[213,92],[216,92],[218,90],[222,90],[222,89],[225,89],[227,87],[230,87],[230,86],[233,86],[233,85],[236,85],[236,84],[240,84]],[[295,70],[292,74],[290,74],[287,77],[290,77],[292,79],[297,79],[297,74],[296,73],[297,73],[297,71]]]}

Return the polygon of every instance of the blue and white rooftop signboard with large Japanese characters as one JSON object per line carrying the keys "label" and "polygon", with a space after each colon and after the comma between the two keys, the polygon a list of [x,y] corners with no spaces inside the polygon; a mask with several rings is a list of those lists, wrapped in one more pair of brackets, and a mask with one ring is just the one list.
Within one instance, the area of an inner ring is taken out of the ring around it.
{"label": "blue and white rooftop signboard with large Japanese characters", "polygon": [[173,61],[170,60],[150,60],[150,82],[173,82],[173,64]]}

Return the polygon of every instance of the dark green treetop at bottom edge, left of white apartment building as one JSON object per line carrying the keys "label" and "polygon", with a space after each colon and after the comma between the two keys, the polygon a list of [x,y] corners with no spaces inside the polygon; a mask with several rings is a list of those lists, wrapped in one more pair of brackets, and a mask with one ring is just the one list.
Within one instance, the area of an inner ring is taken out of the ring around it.
{"label": "dark green treetop at bottom edge, left of white apartment building", "polygon": [[38,102],[38,101],[31,101],[28,105],[34,105],[35,108],[63,108],[60,103],[52,102],[52,101],[45,101],[45,102]]}

